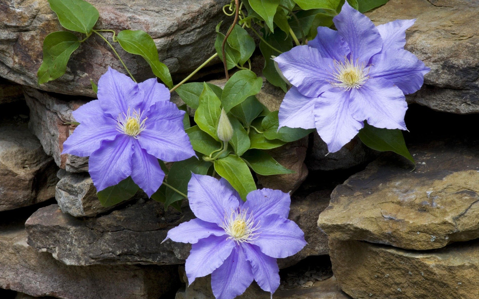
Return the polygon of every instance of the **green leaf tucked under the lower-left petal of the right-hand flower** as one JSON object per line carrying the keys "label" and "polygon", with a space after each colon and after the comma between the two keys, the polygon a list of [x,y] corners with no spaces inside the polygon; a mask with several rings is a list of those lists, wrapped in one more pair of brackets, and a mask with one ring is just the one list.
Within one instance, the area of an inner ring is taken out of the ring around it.
{"label": "green leaf tucked under the lower-left petal of the right-hand flower", "polygon": [[314,132],[315,129],[301,129],[282,127],[278,131],[279,120],[278,111],[273,111],[268,114],[262,121],[262,129],[266,139],[280,139],[285,142],[292,142],[308,136],[309,133]]}

